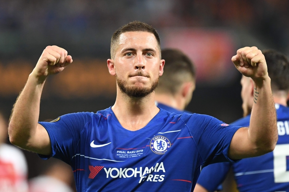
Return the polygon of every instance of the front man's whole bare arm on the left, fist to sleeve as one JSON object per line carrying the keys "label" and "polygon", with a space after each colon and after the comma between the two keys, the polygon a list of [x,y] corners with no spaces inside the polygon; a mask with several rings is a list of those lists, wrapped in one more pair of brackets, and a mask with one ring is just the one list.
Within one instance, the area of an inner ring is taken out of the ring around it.
{"label": "front man's whole bare arm on the left, fist to sleeve", "polygon": [[46,129],[38,124],[40,97],[46,78],[61,72],[72,58],[58,46],[47,46],[14,104],[8,127],[10,142],[42,155],[51,154]]}

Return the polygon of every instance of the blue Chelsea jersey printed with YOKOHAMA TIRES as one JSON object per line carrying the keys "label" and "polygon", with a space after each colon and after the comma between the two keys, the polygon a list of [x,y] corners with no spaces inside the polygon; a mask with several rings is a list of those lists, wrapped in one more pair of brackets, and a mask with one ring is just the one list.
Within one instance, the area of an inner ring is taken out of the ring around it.
{"label": "blue Chelsea jersey printed with YOKOHAMA TIRES", "polygon": [[201,166],[229,161],[240,128],[208,115],[160,112],[142,129],[121,126],[111,107],[39,122],[51,156],[71,165],[77,191],[191,191]]}

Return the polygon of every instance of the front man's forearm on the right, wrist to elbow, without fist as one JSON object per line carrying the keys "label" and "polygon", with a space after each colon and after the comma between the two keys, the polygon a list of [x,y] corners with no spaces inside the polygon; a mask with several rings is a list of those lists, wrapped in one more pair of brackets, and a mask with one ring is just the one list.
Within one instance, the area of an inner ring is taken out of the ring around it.
{"label": "front man's forearm on the right, wrist to elbow, without fist", "polygon": [[[254,103],[249,126],[249,140],[256,152],[274,150],[278,140],[276,110],[271,91],[271,79],[254,82]],[[256,154],[257,155],[257,154]]]}

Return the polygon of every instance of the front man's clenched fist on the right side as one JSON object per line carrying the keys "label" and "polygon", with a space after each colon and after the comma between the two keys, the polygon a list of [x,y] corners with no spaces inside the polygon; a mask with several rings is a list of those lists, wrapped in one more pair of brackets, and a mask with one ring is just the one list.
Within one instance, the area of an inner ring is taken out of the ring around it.
{"label": "front man's clenched fist on the right side", "polygon": [[264,80],[268,77],[265,57],[257,47],[244,47],[232,57],[235,67],[252,80]]}

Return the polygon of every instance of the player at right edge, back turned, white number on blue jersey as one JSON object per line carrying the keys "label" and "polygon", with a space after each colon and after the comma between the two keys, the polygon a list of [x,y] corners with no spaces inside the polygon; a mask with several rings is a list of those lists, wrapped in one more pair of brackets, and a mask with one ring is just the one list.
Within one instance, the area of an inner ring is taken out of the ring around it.
{"label": "player at right edge, back turned, white number on blue jersey", "polygon": [[[194,192],[214,191],[221,184],[232,166],[240,192],[242,191],[289,191],[289,60],[274,50],[264,52],[271,78],[271,88],[277,112],[279,140],[273,152],[260,157],[242,159],[237,163],[216,163],[204,167]],[[250,124],[254,103],[259,101],[251,78],[243,76],[242,100],[244,118],[231,125],[247,127]],[[260,94],[260,93],[259,93]]]}

